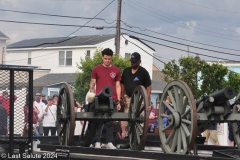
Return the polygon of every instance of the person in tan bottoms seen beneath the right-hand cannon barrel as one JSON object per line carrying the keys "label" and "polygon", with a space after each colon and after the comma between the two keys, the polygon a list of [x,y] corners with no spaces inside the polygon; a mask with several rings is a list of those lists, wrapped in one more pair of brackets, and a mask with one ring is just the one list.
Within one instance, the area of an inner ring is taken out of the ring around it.
{"label": "person in tan bottoms seen beneath the right-hand cannon barrel", "polygon": [[219,141],[217,137],[217,124],[212,124],[208,129],[203,132],[203,136],[206,137],[204,144],[208,144],[208,138],[213,141],[213,143],[219,146]]}

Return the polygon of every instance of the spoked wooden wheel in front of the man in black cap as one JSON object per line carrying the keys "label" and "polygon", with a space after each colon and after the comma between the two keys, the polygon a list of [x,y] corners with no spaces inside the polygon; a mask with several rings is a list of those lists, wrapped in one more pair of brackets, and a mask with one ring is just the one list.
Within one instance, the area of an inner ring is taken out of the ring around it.
{"label": "spoked wooden wheel in front of the man in black cap", "polygon": [[131,97],[129,108],[131,120],[128,122],[128,136],[133,150],[144,149],[148,132],[148,106],[146,89],[143,86],[137,86]]}

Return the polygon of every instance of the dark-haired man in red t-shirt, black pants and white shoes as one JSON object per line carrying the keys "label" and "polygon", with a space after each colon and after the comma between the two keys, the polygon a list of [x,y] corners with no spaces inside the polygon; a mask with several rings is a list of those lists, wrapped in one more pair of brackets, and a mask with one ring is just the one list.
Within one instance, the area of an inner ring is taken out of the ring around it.
{"label": "dark-haired man in red t-shirt, black pants and white shoes", "polygon": [[[120,69],[116,66],[112,65],[112,55],[113,51],[109,48],[106,48],[102,51],[102,60],[103,64],[100,64],[93,68],[92,70],[92,77],[90,82],[90,92],[98,94],[102,88],[106,85],[112,87],[113,89],[113,100],[118,100],[120,102],[121,99],[121,72]],[[96,90],[95,90],[96,85]],[[120,110],[121,106],[120,103],[117,104],[117,110]],[[109,121],[106,123],[106,141],[108,142],[107,148],[109,149],[116,149],[116,147],[112,144],[113,141],[113,122]],[[97,127],[97,128],[101,128]],[[100,135],[101,132],[97,130],[95,136],[95,148],[100,147]]]}

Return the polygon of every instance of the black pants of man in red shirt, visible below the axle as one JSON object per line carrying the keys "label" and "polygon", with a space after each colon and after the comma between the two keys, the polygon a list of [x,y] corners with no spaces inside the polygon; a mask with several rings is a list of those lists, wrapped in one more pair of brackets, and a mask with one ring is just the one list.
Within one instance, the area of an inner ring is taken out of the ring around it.
{"label": "black pants of man in red shirt, visible below the axle", "polygon": [[[101,134],[102,132],[100,131],[102,128],[103,123],[98,123],[97,124],[97,130],[96,130],[96,135],[95,135],[95,141],[96,142],[101,142]],[[108,121],[106,122],[106,142],[113,142],[113,121]]]}

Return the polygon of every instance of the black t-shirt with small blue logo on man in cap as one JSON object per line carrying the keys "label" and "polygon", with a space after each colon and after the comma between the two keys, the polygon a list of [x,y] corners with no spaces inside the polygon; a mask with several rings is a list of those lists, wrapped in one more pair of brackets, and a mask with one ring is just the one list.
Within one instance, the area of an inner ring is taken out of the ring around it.
{"label": "black t-shirt with small blue logo on man in cap", "polygon": [[145,88],[152,84],[148,71],[139,66],[137,72],[132,74],[132,67],[123,71],[121,83],[125,86],[127,96],[131,97],[136,86],[143,85]]}

